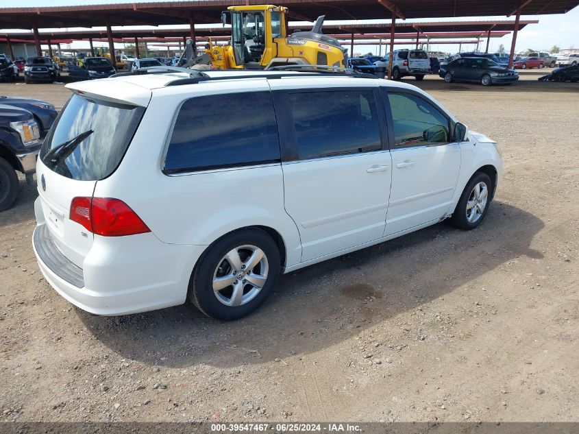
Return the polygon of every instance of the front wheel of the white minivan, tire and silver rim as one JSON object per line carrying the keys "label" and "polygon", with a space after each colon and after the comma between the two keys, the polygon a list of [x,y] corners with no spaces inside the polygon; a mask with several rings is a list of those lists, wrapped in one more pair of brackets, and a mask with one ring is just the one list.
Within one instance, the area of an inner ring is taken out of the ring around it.
{"label": "front wheel of the white minivan, tire and silver rim", "polygon": [[477,172],[460,195],[451,223],[459,229],[476,228],[484,219],[491,204],[493,183],[486,173]]}

